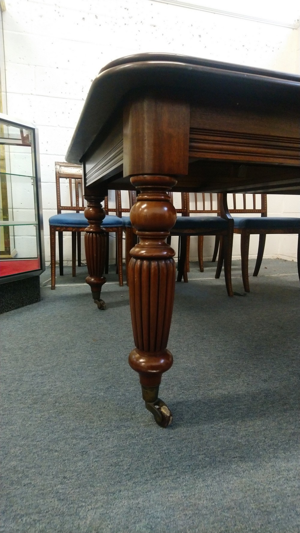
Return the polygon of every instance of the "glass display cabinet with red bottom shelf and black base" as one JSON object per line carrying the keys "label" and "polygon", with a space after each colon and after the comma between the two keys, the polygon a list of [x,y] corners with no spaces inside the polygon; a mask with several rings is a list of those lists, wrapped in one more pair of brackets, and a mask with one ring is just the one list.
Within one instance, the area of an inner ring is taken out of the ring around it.
{"label": "glass display cabinet with red bottom shelf and black base", "polygon": [[4,312],[40,300],[39,274],[45,261],[37,129],[1,113],[0,185],[0,312]]}

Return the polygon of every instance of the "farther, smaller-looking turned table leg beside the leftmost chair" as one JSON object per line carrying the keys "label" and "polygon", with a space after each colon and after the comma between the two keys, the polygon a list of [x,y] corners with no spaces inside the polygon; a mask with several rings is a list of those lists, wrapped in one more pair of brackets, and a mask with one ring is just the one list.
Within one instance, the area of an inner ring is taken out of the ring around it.
{"label": "farther, smaller-looking turned table leg beside the leftmost chair", "polygon": [[98,309],[105,309],[105,302],[101,300],[101,289],[106,278],[103,276],[106,258],[106,234],[101,223],[105,217],[105,211],[101,205],[103,197],[85,196],[87,207],[85,217],[88,227],[85,233],[85,251],[87,260],[88,276],[86,282],[91,288],[91,294]]}

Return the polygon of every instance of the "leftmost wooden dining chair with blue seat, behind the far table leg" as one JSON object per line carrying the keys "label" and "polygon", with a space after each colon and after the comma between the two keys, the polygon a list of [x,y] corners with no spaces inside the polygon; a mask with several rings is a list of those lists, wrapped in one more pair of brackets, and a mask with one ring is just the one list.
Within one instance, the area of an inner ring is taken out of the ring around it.
{"label": "leftmost wooden dining chair with blue seat, behind the far table leg", "polygon": [[[51,257],[51,288],[55,289],[55,253],[56,232],[59,236],[59,265],[60,276],[63,276],[63,232],[70,231],[72,235],[72,276],[76,276],[76,241],[78,251],[78,265],[81,265],[80,233],[85,231],[88,221],[84,215],[84,195],[82,184],[82,169],[79,165],[70,163],[55,163],[56,203],[57,215],[49,218],[50,231],[50,257]],[[62,187],[64,183],[65,187]],[[68,198],[68,205],[62,205],[63,198]],[[107,202],[107,199],[105,200]],[[107,209],[109,206],[107,204]],[[66,211],[66,213],[62,213]],[[129,217],[118,215],[106,215],[102,227],[107,232],[127,233],[131,231]],[[121,240],[122,244],[122,240]],[[118,248],[117,264],[119,284],[123,286],[122,247]]]}

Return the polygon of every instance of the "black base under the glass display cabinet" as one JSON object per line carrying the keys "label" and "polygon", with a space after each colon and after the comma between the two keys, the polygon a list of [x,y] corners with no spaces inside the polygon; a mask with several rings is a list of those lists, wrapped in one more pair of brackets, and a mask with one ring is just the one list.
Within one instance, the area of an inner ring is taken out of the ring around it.
{"label": "black base under the glass display cabinet", "polygon": [[0,285],[0,314],[40,301],[39,276]]}

